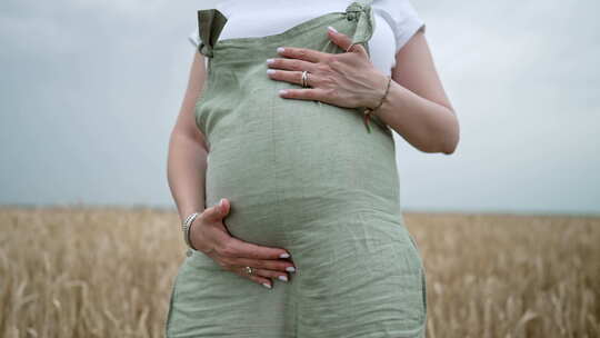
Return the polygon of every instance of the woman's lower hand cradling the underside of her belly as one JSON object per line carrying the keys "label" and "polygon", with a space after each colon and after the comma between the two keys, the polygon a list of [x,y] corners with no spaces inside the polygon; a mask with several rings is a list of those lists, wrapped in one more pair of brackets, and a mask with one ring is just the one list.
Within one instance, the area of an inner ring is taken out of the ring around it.
{"label": "woman's lower hand cradling the underside of her belly", "polygon": [[[268,288],[270,278],[288,281],[287,271],[296,271],[284,249],[262,247],[232,237],[227,230],[223,218],[229,213],[229,200],[223,198],[219,205],[204,209],[190,226],[190,242],[197,250],[212,258],[223,269],[247,277]],[[252,275],[246,267],[252,268]]]}

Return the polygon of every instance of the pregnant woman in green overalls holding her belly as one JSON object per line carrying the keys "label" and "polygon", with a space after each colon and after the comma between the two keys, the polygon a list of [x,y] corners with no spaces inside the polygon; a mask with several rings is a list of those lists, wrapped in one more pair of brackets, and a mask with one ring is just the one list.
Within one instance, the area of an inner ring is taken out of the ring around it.
{"label": "pregnant woman in green overalls holding her belly", "polygon": [[167,337],[424,336],[393,132],[452,153],[459,127],[414,9],[230,0],[198,23],[168,159],[189,249]]}

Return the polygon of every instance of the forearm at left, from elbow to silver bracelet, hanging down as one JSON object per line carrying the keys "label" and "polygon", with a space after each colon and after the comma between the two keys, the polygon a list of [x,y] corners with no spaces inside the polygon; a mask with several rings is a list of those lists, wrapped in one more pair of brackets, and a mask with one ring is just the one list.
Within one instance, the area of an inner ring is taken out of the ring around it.
{"label": "forearm at left, from elbow to silver bracelet, hanging down", "polygon": [[197,139],[171,133],[167,177],[181,221],[204,210],[207,149]]}

